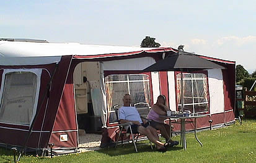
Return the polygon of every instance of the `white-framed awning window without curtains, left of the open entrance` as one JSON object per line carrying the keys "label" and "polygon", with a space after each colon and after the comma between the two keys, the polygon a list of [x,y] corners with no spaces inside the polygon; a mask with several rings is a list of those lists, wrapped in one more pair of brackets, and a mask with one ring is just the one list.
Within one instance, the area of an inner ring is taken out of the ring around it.
{"label": "white-framed awning window without curtains, left of the open entrance", "polygon": [[37,75],[32,72],[5,74],[0,122],[29,125],[33,115]]}

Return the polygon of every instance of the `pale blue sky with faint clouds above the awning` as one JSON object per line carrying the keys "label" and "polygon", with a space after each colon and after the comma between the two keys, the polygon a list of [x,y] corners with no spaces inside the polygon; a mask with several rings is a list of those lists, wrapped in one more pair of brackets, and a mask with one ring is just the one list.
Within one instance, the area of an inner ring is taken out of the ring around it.
{"label": "pale blue sky with faint clouds above the awning", "polygon": [[256,1],[0,0],[0,38],[161,46],[256,70]]}

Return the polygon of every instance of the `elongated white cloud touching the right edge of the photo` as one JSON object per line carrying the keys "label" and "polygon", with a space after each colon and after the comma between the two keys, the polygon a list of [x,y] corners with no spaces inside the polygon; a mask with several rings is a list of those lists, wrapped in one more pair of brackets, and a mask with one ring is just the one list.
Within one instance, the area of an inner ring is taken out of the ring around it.
{"label": "elongated white cloud touching the right edge of the photo", "polygon": [[223,45],[226,43],[236,44],[238,46],[249,43],[256,43],[256,36],[245,36],[242,38],[239,38],[238,36],[226,36],[217,40],[218,45]]}

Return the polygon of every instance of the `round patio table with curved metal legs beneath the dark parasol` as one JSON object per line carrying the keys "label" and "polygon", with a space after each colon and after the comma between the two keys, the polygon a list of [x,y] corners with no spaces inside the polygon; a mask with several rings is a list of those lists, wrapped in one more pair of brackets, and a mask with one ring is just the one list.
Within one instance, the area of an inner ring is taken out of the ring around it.
{"label": "round patio table with curved metal legs beneath the dark parasol", "polygon": [[[198,140],[197,136],[196,136],[196,119],[201,118],[201,117],[206,117],[208,114],[177,114],[177,115],[159,115],[159,117],[164,117],[166,119],[169,119],[169,124],[171,126],[171,120],[174,119],[180,119],[180,143],[182,143],[182,148],[184,150],[187,149],[187,141],[186,141],[186,122],[187,123],[192,123],[194,122],[195,125],[195,129],[194,129],[194,133],[195,133],[195,138],[198,141],[198,143],[203,146],[203,144],[201,143],[200,140]],[[186,121],[186,119],[194,119],[193,121]]]}

